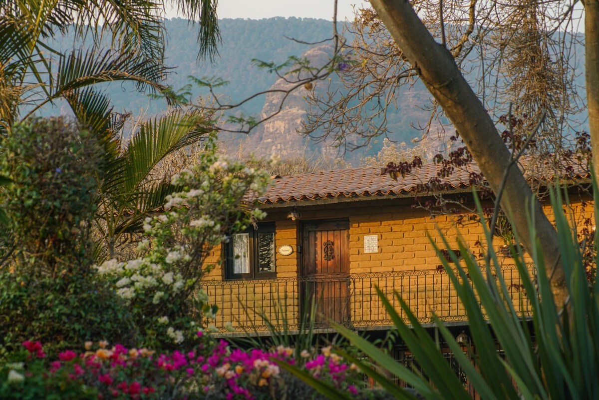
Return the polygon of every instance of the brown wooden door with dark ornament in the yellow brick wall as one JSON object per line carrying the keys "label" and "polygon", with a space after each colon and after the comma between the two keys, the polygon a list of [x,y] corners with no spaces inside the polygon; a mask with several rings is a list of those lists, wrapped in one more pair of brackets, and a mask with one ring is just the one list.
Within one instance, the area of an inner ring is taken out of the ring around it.
{"label": "brown wooden door with dark ornament in the yellow brick wall", "polygon": [[326,320],[350,321],[349,222],[330,220],[302,225],[302,304]]}

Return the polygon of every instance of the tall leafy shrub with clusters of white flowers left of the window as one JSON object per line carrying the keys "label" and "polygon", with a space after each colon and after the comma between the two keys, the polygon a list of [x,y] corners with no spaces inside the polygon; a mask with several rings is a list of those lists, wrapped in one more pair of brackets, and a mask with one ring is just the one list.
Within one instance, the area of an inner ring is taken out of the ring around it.
{"label": "tall leafy shrub with clusters of white flowers left of the window", "polygon": [[216,307],[198,287],[213,268],[204,265],[206,257],[264,217],[251,199],[264,193],[269,181],[267,172],[217,154],[210,140],[198,165],[173,176],[171,183],[180,190],[167,197],[162,213],[146,219],[148,238],[138,245],[143,256],[98,266],[129,305],[144,345],[180,344],[196,334],[204,317],[214,316]]}

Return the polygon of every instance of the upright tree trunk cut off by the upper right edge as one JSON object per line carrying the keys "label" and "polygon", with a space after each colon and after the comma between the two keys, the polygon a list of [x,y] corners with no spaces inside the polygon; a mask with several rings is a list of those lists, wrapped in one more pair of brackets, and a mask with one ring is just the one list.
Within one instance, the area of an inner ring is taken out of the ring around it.
{"label": "upright tree trunk cut off by the upper right edge", "polygon": [[585,80],[593,172],[599,177],[599,0],[585,0]]}

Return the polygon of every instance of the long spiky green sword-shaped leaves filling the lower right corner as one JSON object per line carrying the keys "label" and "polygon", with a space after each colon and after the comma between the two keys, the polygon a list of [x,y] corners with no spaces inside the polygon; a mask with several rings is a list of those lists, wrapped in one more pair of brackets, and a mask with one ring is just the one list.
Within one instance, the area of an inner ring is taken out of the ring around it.
{"label": "long spiky green sword-shaped leaves filling the lower right corner", "polygon": [[[595,198],[598,198],[597,191]],[[500,262],[492,246],[488,246],[490,257],[483,268],[461,240],[459,250],[462,255],[467,254],[463,260],[449,250],[455,269],[445,257],[440,257],[467,310],[472,340],[470,351],[476,349],[474,362],[464,354],[462,345],[456,342],[443,322],[434,314],[432,317],[443,340],[481,398],[533,400],[591,399],[599,396],[599,284],[597,280],[589,284],[583,263],[583,249],[577,242],[576,227],[568,225],[561,204],[560,193],[552,195],[559,249],[570,293],[568,307],[563,311],[557,310],[553,301],[551,282],[546,274],[552,266],[545,264],[538,241],[531,254],[537,266],[534,280],[528,275],[522,251],[514,254],[517,256],[515,262],[522,277],[526,300],[533,308],[530,324],[519,316],[509,301],[509,288],[506,287],[499,268]],[[534,226],[534,221],[530,223]],[[487,243],[491,243],[491,233],[486,230],[485,234]],[[447,240],[443,238],[443,241],[446,248],[450,249]],[[437,251],[440,254],[440,249],[437,248]],[[383,371],[400,378],[426,399],[470,399],[429,332],[420,325],[401,296],[396,294],[407,320],[394,310],[380,290],[379,296],[404,343],[415,356],[422,374],[406,368],[349,329],[334,324],[353,346],[376,360],[377,367],[357,359],[353,359],[353,362],[398,399],[413,399],[414,396],[394,384]],[[482,310],[479,304],[482,304]],[[504,356],[498,353],[496,340]],[[352,359],[349,355],[347,358]],[[285,368],[321,393],[331,398],[342,397],[334,388],[314,381],[301,371],[291,366]]]}

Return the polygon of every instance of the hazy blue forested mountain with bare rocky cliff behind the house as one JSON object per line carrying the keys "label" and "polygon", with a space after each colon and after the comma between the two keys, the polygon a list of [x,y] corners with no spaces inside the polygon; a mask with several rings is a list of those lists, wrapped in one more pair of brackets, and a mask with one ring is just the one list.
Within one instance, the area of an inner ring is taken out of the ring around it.
{"label": "hazy blue forested mountain with bare rocky cliff behind the house", "polygon": [[[262,20],[223,19],[220,20],[222,43],[219,45],[219,56],[210,62],[198,62],[198,45],[196,43],[196,26],[189,24],[184,19],[171,19],[165,21],[167,28],[166,63],[173,66],[173,73],[168,75],[167,84],[175,89],[183,87],[190,82],[188,76],[202,78],[222,78],[229,83],[220,87],[223,102],[237,103],[254,93],[269,88],[280,87],[282,80],[277,80],[276,74],[268,73],[252,65],[252,59],[264,60],[280,64],[289,56],[308,57],[322,65],[326,62],[328,53],[322,45],[309,46],[304,42],[317,42],[331,37],[331,22],[318,19],[283,18],[276,17]],[[289,40],[295,38],[298,41]],[[350,41],[352,38],[347,38]],[[69,39],[65,38],[59,45],[61,49],[68,49]],[[316,47],[316,49],[313,49]],[[329,51],[330,53],[330,51]],[[467,66],[465,69],[471,69]],[[332,84],[337,82],[336,75],[332,75]],[[316,83],[318,90],[323,90],[328,83]],[[134,86],[122,83],[104,85],[107,94],[112,99],[115,110],[130,111],[134,116],[144,113],[146,117],[161,113],[166,109],[164,101],[156,101],[135,92]],[[205,95],[198,87],[192,88],[192,96]],[[292,93],[286,100],[282,113],[264,123],[253,131],[245,143],[246,149],[257,153],[270,154],[273,151],[282,156],[294,156],[304,151],[316,151],[328,155],[337,154],[337,149],[332,149],[326,144],[307,141],[299,135],[297,130],[305,119],[307,104],[304,96],[305,89]],[[429,104],[429,93],[422,84],[413,87],[404,87],[398,95],[398,108],[389,110],[389,138],[394,141],[410,142],[420,132],[412,125],[418,126],[419,121],[428,119],[428,112],[423,110]],[[248,116],[264,117],[279,107],[280,95],[269,94],[259,96],[243,104],[235,113]],[[68,109],[62,107],[62,111]],[[231,135],[225,135],[231,138]],[[237,137],[239,138],[239,137]],[[244,138],[243,136],[241,138]],[[347,157],[357,161],[367,154],[376,154],[382,146],[382,138],[370,147],[361,149],[357,153],[348,153]]]}

